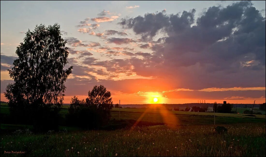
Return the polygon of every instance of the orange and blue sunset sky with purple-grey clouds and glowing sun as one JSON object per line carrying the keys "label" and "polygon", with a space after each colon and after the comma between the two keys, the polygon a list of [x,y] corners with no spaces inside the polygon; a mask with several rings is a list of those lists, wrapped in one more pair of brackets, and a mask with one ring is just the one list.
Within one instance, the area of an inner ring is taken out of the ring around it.
{"label": "orange and blue sunset sky with purple-grey clouds and glowing sun", "polygon": [[265,102],[265,1],[1,1],[1,101],[40,23],[68,41],[64,103],[100,84],[114,104]]}

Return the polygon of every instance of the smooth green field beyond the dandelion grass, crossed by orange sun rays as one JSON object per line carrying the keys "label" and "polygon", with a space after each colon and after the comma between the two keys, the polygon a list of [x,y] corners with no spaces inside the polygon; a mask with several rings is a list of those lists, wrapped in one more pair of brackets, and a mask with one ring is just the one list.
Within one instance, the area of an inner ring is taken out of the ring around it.
{"label": "smooth green field beyond the dandelion grass, crossed by orange sun rays", "polygon": [[[1,114],[9,114],[9,108],[1,107]],[[67,109],[62,109],[63,117],[68,113]],[[167,118],[172,116],[171,118]],[[111,110],[111,118],[119,120],[119,108]],[[174,124],[174,125],[205,125],[214,123],[214,115],[210,112],[184,112],[184,111],[166,111],[153,109],[120,109],[120,119],[132,121],[144,121],[155,124]],[[176,121],[173,121],[176,120]],[[246,116],[246,114],[233,113],[215,113],[216,124],[235,124],[264,122],[265,115],[256,115],[256,117]]]}

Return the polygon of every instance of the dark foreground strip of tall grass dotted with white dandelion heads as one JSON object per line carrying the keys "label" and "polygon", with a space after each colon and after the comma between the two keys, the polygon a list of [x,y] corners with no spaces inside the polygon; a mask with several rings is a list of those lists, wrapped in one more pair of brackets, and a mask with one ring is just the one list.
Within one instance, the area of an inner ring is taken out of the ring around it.
{"label": "dark foreground strip of tall grass dotted with white dandelion heads", "polygon": [[[1,156],[265,156],[265,123],[165,125],[114,131],[1,134]],[[25,151],[5,154],[4,151]]]}

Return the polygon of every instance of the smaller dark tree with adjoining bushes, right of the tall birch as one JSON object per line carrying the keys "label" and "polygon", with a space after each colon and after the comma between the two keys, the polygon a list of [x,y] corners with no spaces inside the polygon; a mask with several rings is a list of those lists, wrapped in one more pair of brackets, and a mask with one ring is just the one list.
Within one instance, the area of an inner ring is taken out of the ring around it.
{"label": "smaller dark tree with adjoining bushes, right of the tall birch", "polygon": [[112,108],[111,92],[103,85],[94,86],[86,101],[78,100],[76,96],[71,99],[66,118],[70,125],[97,129],[109,121]]}

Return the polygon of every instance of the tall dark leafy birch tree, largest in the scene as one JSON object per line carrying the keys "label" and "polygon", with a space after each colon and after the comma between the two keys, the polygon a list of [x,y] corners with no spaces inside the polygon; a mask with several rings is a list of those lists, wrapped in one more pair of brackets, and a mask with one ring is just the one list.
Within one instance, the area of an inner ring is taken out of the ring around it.
{"label": "tall dark leafy birch tree, largest in the scene", "polygon": [[41,130],[56,127],[64,83],[73,68],[64,70],[69,54],[66,41],[57,23],[48,27],[36,25],[25,35],[24,43],[16,48],[18,59],[8,70],[14,83],[7,85],[4,95],[17,120],[31,120],[34,128]]}

